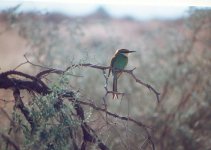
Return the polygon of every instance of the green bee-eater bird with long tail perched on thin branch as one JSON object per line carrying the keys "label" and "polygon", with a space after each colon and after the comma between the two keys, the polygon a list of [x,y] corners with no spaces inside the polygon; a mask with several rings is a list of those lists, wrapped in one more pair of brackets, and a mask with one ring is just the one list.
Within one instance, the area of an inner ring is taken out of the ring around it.
{"label": "green bee-eater bird with long tail perched on thin branch", "polygon": [[111,59],[110,68],[108,77],[110,73],[113,74],[113,99],[118,99],[117,94],[117,79],[122,74],[122,69],[124,69],[128,64],[128,54],[133,53],[135,51],[130,51],[128,49],[118,49],[114,56]]}

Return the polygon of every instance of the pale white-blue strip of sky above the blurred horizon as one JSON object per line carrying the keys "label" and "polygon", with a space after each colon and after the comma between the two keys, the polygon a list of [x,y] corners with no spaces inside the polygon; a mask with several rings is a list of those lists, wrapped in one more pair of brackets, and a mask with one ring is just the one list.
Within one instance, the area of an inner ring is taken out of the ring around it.
{"label": "pale white-blue strip of sky above the blurred horizon", "polygon": [[[200,3],[201,2],[201,3]],[[211,7],[211,0],[1,0],[0,10],[22,4],[20,11],[60,12],[82,16],[104,7],[111,16],[132,16],[138,20],[174,19],[186,14],[189,6]]]}

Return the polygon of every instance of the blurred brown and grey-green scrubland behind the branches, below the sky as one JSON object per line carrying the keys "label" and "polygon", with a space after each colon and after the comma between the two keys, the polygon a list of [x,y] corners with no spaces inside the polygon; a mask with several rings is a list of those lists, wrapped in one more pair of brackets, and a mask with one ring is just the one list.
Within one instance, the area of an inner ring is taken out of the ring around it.
{"label": "blurred brown and grey-green scrubland behind the branches, below the sky", "polygon": [[[83,17],[17,12],[19,7],[21,6],[0,13],[0,73],[12,70],[24,62],[24,54],[35,64],[66,69],[79,63],[108,66],[116,49],[135,50],[137,52],[130,56],[127,69],[136,67],[135,75],[161,93],[160,103],[157,104],[154,94],[146,87],[123,74],[118,87],[126,95],[115,101],[112,100],[112,95],[108,95],[108,110],[153,127],[150,133],[158,150],[211,149],[209,8],[190,7],[187,15],[174,20],[138,21],[132,17],[112,18],[103,7]],[[35,75],[42,68],[26,64],[18,70]],[[79,67],[71,69],[70,73],[74,76],[51,76],[46,83],[52,89],[71,89],[81,100],[92,100],[101,106],[106,92],[102,72]],[[111,87],[109,81],[109,88]],[[28,93],[23,95],[24,103],[31,110],[34,107],[31,103],[44,105],[38,104],[38,98],[33,102],[28,101]],[[11,121],[8,118],[25,125],[20,113],[13,110],[12,92],[1,89],[0,99],[1,133],[8,133]],[[42,97],[39,100],[46,102],[46,106],[40,108],[40,111],[45,111],[50,106],[48,104],[52,97]],[[97,130],[110,149],[140,149],[145,142],[143,129],[135,124],[120,123],[113,119],[112,124],[106,125],[100,118],[102,114],[99,115],[91,108],[85,110],[87,122]],[[14,119],[14,116],[19,116],[19,119]],[[41,126],[45,124],[44,118]],[[106,128],[103,127],[105,125]],[[77,121],[74,128],[77,130]],[[56,128],[53,131],[55,134],[64,134],[65,137],[65,132],[56,131]],[[27,138],[26,132],[23,128],[17,129],[11,134],[11,138],[22,149],[36,149],[40,139]],[[53,135],[48,135],[48,139],[49,137]],[[80,143],[79,137],[77,140]],[[49,144],[49,141],[46,143]],[[69,149],[64,143],[54,149]],[[0,149],[6,149],[5,147],[3,138],[0,138]],[[40,149],[49,149],[49,145]],[[96,147],[91,145],[89,149]]]}

